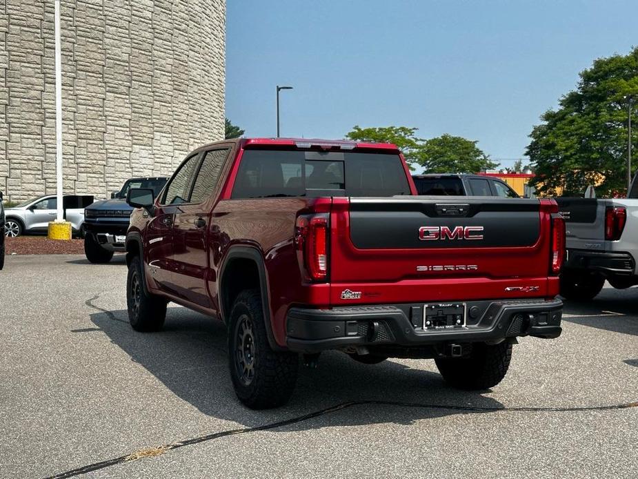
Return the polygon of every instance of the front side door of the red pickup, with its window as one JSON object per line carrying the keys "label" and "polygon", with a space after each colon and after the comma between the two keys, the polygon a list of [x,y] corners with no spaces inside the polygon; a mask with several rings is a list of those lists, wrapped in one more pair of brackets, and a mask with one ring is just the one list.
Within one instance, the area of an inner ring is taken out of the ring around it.
{"label": "front side door of the red pickup, with its window", "polygon": [[175,213],[190,194],[192,175],[199,165],[200,158],[200,153],[191,155],[177,168],[168,180],[168,185],[146,228],[148,274],[160,289],[172,294],[177,294],[173,262],[173,222]]}

